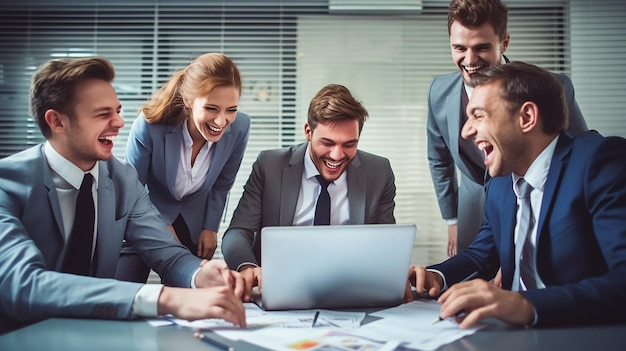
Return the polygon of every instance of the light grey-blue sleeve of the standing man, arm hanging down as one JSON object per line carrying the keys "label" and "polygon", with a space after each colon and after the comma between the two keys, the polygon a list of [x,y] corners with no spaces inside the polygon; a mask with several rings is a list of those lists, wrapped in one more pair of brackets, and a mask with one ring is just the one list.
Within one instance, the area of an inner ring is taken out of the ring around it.
{"label": "light grey-blue sleeve of the standing man, arm hanging down", "polygon": [[428,90],[428,120],[426,132],[428,139],[428,166],[435,187],[439,210],[444,219],[457,218],[458,204],[458,181],[452,154],[446,145],[437,121],[442,118],[439,114],[444,113],[441,104],[435,104],[435,85],[437,78],[433,80]]}

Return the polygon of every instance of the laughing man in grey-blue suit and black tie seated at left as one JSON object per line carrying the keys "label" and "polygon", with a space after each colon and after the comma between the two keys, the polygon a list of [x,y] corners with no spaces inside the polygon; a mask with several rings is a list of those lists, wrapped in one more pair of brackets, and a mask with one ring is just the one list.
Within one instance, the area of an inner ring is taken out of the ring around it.
{"label": "laughing man in grey-blue suit and black tie seated at left", "polygon": [[[33,77],[31,109],[47,141],[0,160],[0,333],[49,317],[245,326],[240,274],[178,244],[135,170],[113,157],[124,126],[114,75],[91,57],[50,61]],[[167,286],[111,279],[124,239]]]}

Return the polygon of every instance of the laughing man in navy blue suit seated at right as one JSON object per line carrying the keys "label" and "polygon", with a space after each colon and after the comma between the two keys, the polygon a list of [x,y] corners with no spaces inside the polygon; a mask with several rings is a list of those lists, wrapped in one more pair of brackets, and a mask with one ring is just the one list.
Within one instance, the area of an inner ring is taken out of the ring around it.
{"label": "laughing man in navy blue suit seated at right", "polygon": [[[572,138],[562,86],[536,66],[491,67],[471,84],[462,135],[485,151],[493,177],[483,224],[463,253],[412,267],[416,289],[445,290],[441,317],[465,310],[461,327],[488,317],[520,326],[626,321],[626,140]],[[520,178],[531,187],[528,221]],[[482,280],[499,266],[503,289]],[[482,279],[461,282],[473,273]]]}

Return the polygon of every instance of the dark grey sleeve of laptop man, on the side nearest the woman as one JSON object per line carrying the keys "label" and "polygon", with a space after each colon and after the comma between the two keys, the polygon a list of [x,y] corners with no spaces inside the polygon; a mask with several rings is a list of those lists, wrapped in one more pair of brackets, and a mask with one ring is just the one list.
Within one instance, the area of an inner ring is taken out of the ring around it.
{"label": "dark grey sleeve of laptop man, on the side nearest the woman", "polygon": [[222,238],[222,254],[230,269],[237,269],[244,262],[261,263],[255,255],[253,241],[261,230],[263,218],[264,154],[261,152],[252,165],[243,195]]}

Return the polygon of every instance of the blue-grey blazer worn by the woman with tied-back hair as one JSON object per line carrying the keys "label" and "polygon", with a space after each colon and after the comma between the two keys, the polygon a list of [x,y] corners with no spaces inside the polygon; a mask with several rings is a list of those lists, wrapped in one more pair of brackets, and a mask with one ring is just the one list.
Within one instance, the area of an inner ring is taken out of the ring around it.
{"label": "blue-grey blazer worn by the woman with tied-back hair", "polygon": [[178,214],[185,219],[194,243],[202,229],[217,232],[226,197],[233,187],[250,135],[250,116],[237,112],[235,121],[213,145],[211,166],[202,187],[183,197],[174,196],[174,183],[183,124],[149,124],[143,114],[133,123],[126,147],[126,161],[132,164],[139,180],[147,184],[150,199],[167,222],[172,224]]}

